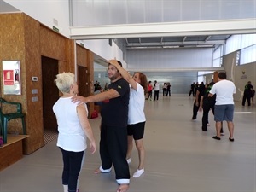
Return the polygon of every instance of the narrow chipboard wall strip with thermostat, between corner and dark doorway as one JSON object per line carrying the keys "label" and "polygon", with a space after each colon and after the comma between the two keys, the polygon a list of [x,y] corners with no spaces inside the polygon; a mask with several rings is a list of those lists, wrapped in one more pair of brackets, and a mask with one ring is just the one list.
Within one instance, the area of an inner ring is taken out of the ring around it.
{"label": "narrow chipboard wall strip with thermostat, between corner and dark doorway", "polygon": [[[44,146],[43,127],[43,96],[42,96],[42,67],[40,55],[40,24],[37,20],[24,15],[25,28],[25,64],[26,64],[26,130],[30,135],[24,141],[25,154]],[[38,77],[38,81],[32,81],[32,77]],[[33,94],[32,90],[38,93]],[[38,102],[32,102],[37,97]]]}

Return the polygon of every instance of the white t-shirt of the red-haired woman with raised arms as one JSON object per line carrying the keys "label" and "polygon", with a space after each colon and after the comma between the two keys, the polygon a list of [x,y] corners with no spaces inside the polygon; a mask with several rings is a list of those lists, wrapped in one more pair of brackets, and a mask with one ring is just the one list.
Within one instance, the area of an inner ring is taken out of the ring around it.
{"label": "white t-shirt of the red-haired woman with raised arms", "polygon": [[132,88],[130,90],[128,125],[133,125],[146,121],[144,104],[144,89],[141,84],[137,83],[137,90],[134,90]]}

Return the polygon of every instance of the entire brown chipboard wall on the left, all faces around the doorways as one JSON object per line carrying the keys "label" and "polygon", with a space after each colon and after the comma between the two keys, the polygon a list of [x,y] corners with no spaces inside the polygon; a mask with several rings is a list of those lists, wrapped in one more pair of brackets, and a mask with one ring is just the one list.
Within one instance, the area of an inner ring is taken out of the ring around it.
{"label": "entire brown chipboard wall on the left, all faces around the doorways", "polygon": [[[53,32],[37,20],[23,13],[0,15],[0,61],[20,60],[21,95],[3,95],[2,65],[0,67],[1,95],[8,101],[21,102],[26,113],[24,153],[31,154],[44,145],[43,92],[41,56],[58,60],[59,73],[75,72],[74,40]],[[77,48],[77,47],[76,47]],[[79,46],[77,62],[90,70],[93,81],[93,53]],[[37,82],[32,77],[38,77]],[[32,93],[37,90],[38,93]],[[37,102],[32,102],[37,97]],[[90,104],[93,105],[93,104]],[[15,122],[16,121],[16,122]],[[9,131],[21,130],[20,119],[9,122]]]}

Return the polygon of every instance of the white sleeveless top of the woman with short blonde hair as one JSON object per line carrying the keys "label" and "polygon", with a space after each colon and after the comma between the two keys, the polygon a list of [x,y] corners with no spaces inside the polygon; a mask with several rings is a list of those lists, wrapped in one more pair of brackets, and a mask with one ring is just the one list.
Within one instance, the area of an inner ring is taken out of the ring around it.
{"label": "white sleeveless top of the woman with short blonde hair", "polygon": [[53,106],[59,131],[57,146],[67,151],[80,152],[87,148],[86,135],[77,113],[78,105],[79,102],[73,103],[71,97],[61,97]]}

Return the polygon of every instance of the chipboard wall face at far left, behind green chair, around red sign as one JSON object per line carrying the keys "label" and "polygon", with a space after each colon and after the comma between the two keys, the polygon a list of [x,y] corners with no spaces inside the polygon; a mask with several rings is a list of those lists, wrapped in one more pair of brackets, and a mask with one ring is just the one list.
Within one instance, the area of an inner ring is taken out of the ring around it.
{"label": "chipboard wall face at far left, behind green chair, around red sign", "polygon": [[[26,66],[25,66],[25,39],[24,39],[24,15],[2,14],[0,15],[0,82],[1,97],[7,101],[21,102],[23,113],[26,113]],[[21,74],[21,95],[3,95],[3,67],[2,61],[19,60]],[[9,111],[9,106],[4,110]],[[12,109],[10,109],[12,110]],[[9,121],[8,131],[13,133],[21,131],[20,119]]]}

